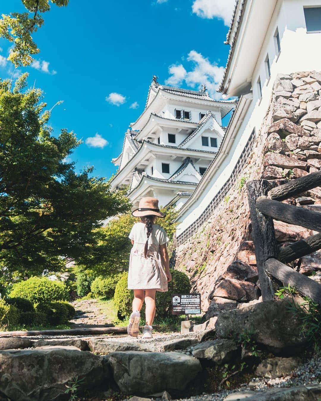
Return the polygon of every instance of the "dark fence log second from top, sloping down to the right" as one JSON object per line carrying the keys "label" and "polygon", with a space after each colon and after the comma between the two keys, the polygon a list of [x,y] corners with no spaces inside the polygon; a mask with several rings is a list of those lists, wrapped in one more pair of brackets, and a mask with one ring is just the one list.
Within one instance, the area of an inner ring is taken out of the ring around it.
{"label": "dark fence log second from top, sloping down to the right", "polygon": [[292,205],[286,205],[279,201],[273,201],[261,196],[256,201],[257,209],[273,219],[284,223],[299,225],[310,230],[321,231],[321,215],[318,212]]}

